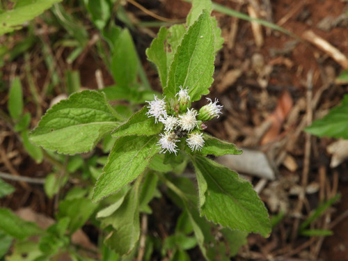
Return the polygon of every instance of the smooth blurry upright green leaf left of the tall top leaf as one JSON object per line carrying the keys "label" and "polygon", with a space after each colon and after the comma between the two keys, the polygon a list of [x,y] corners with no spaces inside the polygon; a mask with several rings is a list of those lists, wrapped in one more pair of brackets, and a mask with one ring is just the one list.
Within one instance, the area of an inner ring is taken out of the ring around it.
{"label": "smooth blurry upright green leaf left of the tall top leaf", "polygon": [[116,83],[123,88],[129,88],[136,81],[138,56],[127,29],[118,36],[111,60],[111,71]]}

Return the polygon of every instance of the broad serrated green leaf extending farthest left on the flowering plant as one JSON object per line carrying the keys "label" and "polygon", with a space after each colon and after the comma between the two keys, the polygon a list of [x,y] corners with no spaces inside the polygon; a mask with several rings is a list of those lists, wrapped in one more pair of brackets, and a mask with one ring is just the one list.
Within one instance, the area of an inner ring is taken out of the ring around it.
{"label": "broad serrated green leaf extending farthest left on the flowering plant", "polygon": [[87,152],[118,126],[116,120],[105,95],[84,90],[52,106],[31,132],[30,140],[60,153]]}

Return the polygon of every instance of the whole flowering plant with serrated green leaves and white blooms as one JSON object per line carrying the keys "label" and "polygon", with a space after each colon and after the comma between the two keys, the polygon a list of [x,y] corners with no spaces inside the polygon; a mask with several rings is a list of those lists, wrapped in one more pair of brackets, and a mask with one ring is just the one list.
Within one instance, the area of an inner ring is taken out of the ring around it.
{"label": "whole flowering plant with serrated green leaves and white blooms", "polygon": [[[46,150],[74,155],[93,150],[111,134],[113,147],[90,199],[103,203],[97,219],[107,228],[105,242],[122,255],[135,248],[139,214],[152,213],[148,203],[159,191],[166,193],[163,187],[187,216],[208,260],[214,260],[215,252],[209,251],[209,229],[202,227],[206,220],[226,227],[219,228],[223,235],[239,230],[267,237],[271,231],[267,209],[252,185],[206,157],[242,153],[206,133],[209,120],[223,115],[219,100],[203,97],[209,94],[214,58],[223,44],[211,10],[210,1],[193,1],[186,24],[159,30],[146,54],[157,68],[163,93],[146,96],[142,109],[130,118],[124,109],[111,106],[104,90],[83,90],[52,106],[30,135]],[[118,38],[132,39],[127,30]],[[113,64],[117,66],[126,70]],[[136,81],[136,74],[114,75],[119,88],[128,88],[128,79]],[[192,106],[201,98],[204,106]],[[192,180],[184,182],[187,164],[196,171],[197,189],[189,189]]]}

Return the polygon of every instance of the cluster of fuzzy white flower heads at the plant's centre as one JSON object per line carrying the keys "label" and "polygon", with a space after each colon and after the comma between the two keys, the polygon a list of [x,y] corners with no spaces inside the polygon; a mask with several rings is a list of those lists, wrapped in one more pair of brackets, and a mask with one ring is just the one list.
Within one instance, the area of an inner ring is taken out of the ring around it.
{"label": "cluster of fuzzy white flower heads at the plant's centre", "polygon": [[222,105],[219,105],[219,100],[215,99],[212,102],[209,100],[209,104],[200,108],[199,111],[195,109],[189,109],[190,106],[190,96],[188,93],[188,88],[182,88],[179,86],[180,91],[175,95],[177,100],[174,101],[172,107],[168,108],[168,111],[173,111],[173,113],[167,113],[167,103],[165,99],[159,100],[156,95],[154,95],[155,100],[148,102],[149,106],[146,115],[148,117],[155,117],[155,123],[162,122],[164,124],[164,134],[159,134],[161,139],[157,145],[161,146],[160,153],[174,152],[175,155],[179,150],[177,148],[177,143],[181,139],[186,138],[186,143],[189,148],[194,150],[202,150],[204,145],[203,139],[203,129],[207,126],[205,121],[211,120],[214,117],[219,118],[221,113]]}

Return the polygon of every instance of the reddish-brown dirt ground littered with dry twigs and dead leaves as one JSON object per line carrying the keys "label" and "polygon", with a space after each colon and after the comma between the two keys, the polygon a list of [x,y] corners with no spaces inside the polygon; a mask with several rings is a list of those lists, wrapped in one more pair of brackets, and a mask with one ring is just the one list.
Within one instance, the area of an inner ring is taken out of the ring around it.
{"label": "reddish-brown dirt ground littered with dry twigs and dead leaves", "polygon": [[[153,13],[171,19],[184,19],[189,3],[182,1],[138,1]],[[348,93],[348,83],[335,80],[348,67],[348,3],[344,0],[226,0],[223,6],[255,15],[290,34],[230,17],[214,11],[226,42],[216,58],[214,84],[210,97],[218,97],[224,115],[208,127],[220,139],[267,155],[275,173],[274,180],[248,175],[271,215],[284,213],[270,237],[250,235],[248,245],[240,249],[235,260],[348,260],[348,161],[330,167],[328,146],[334,139],[310,136],[302,129],[316,118],[322,118]],[[154,21],[130,3],[126,10],[141,21]],[[133,34],[150,84],[159,90],[159,79],[145,59],[158,29],[144,29]],[[90,35],[95,31],[89,31]],[[322,42],[316,40],[322,39]],[[324,42],[324,43],[323,43]],[[328,49],[329,43],[335,49]],[[35,52],[39,52],[35,50]],[[338,58],[337,53],[343,58]],[[63,57],[58,66],[65,66]],[[23,58],[3,68],[8,81],[15,64],[23,69]],[[11,67],[12,66],[12,67]],[[81,85],[96,88],[95,70],[101,69],[104,84],[113,84],[102,61],[90,50],[79,63],[72,64],[81,74]],[[37,65],[37,88],[45,82],[45,66]],[[25,86],[24,93],[29,95]],[[6,93],[0,93],[6,95]],[[58,92],[56,94],[59,94]],[[2,99],[1,99],[2,100]],[[6,108],[5,102],[0,102]],[[42,110],[49,100],[42,102]],[[35,107],[26,108],[38,122]],[[18,137],[6,122],[0,120],[0,171],[32,177],[45,177],[51,171],[47,162],[37,165],[24,152]],[[247,174],[247,173],[246,173]],[[54,202],[45,197],[42,186],[29,187],[12,182],[17,191],[0,200],[2,207],[31,207],[35,212],[52,215]],[[341,194],[340,201],[310,225],[313,229],[332,229],[329,237],[296,235],[299,224],[318,205]]]}

